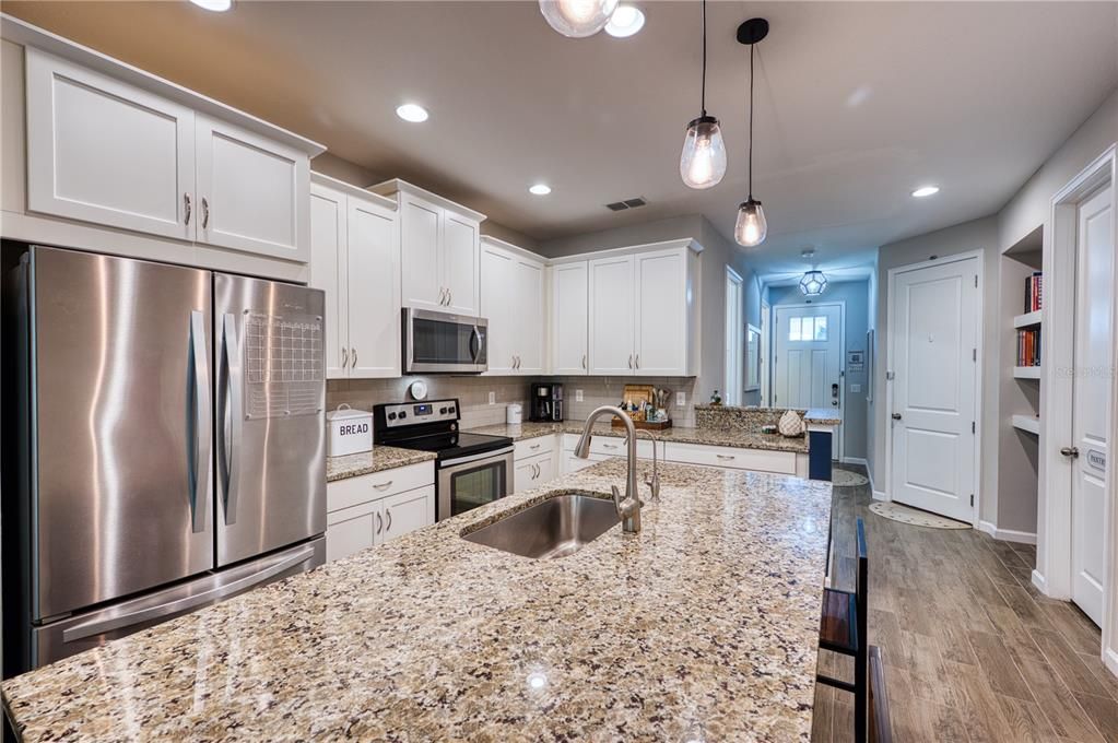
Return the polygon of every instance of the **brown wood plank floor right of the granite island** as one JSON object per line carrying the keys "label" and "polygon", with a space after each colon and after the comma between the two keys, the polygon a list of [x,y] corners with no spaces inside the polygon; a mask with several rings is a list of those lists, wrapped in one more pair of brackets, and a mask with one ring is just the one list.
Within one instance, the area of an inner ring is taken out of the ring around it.
{"label": "brown wood plank floor right of the granite island", "polygon": [[[854,588],[861,516],[870,642],[884,656],[897,743],[1118,741],[1118,678],[1099,658],[1099,628],[1033,588],[1034,547],[889,521],[870,502],[868,486],[835,488],[833,583]],[[831,652],[819,667],[853,677]],[[853,740],[853,695],[819,685],[815,704],[813,741]]]}

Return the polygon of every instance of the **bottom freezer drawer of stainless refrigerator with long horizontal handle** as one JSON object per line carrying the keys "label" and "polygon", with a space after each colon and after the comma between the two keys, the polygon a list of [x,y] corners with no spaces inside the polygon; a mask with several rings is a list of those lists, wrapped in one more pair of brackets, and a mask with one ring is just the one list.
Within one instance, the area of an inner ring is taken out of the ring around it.
{"label": "bottom freezer drawer of stainless refrigerator with long horizontal handle", "polygon": [[138,599],[36,627],[31,631],[32,667],[139,632],[288,575],[313,570],[325,561],[326,540],[320,536]]}

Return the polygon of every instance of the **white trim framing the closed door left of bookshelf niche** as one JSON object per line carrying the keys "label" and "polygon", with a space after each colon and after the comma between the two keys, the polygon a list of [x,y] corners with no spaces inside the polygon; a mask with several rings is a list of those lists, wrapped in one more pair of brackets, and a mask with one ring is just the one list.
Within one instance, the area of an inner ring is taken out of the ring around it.
{"label": "white trim framing the closed door left of bookshelf niche", "polygon": [[974,494],[975,494],[975,506],[974,513],[972,515],[972,526],[978,528],[978,514],[982,513],[982,415],[983,415],[983,391],[982,391],[982,378],[983,378],[983,359],[985,358],[984,350],[984,339],[983,339],[983,327],[982,320],[985,316],[985,302],[983,298],[983,292],[986,286],[985,277],[985,265],[984,256],[982,250],[968,250],[966,253],[959,253],[953,256],[944,256],[942,258],[935,258],[930,260],[921,260],[920,263],[908,264],[907,266],[896,266],[889,269],[889,288],[885,293],[885,404],[881,409],[881,416],[878,418],[879,430],[885,436],[885,480],[884,486],[885,499],[892,501],[892,482],[893,482],[893,429],[890,421],[890,413],[893,411],[893,380],[891,379],[893,373],[893,361],[896,360],[896,354],[893,351],[893,341],[896,339],[896,317],[893,317],[893,297],[897,294],[897,276],[899,274],[904,274],[910,270],[919,270],[921,268],[930,268],[932,266],[944,266],[947,264],[958,263],[960,260],[976,259],[977,267],[975,268],[978,274],[978,312],[975,313],[976,328],[976,343],[978,344],[977,359],[975,360],[975,436],[974,436],[974,447],[975,447],[975,477],[974,477]]}

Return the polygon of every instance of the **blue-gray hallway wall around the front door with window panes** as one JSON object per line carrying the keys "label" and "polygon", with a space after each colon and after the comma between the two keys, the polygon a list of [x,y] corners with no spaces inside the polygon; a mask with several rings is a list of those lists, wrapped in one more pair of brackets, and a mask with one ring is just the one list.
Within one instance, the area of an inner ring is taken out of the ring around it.
{"label": "blue-gray hallway wall around the front door with window panes", "polygon": [[[774,312],[778,306],[812,304],[808,302],[798,286],[771,286],[768,289],[769,304]],[[827,302],[842,302],[846,305],[846,324],[843,327],[846,351],[865,351],[865,332],[870,323],[870,283],[861,282],[839,282],[827,284],[823,296],[814,301],[814,304],[825,304]],[[775,324],[774,324],[775,327]],[[774,342],[775,346],[775,342]],[[843,368],[846,360],[842,361]],[[866,453],[866,382],[869,372],[846,372],[843,383],[846,387],[843,408],[843,457],[847,459],[865,459]],[[852,384],[860,387],[858,392],[851,390]]]}

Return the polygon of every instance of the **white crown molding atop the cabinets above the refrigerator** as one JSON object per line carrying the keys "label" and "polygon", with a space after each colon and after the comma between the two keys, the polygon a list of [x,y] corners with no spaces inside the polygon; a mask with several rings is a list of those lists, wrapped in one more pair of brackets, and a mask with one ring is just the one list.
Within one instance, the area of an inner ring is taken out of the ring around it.
{"label": "white crown molding atop the cabinets above the refrigerator", "polygon": [[236,124],[246,130],[262,134],[271,140],[281,142],[288,146],[305,152],[314,158],[326,151],[325,145],[320,144],[305,136],[290,132],[281,126],[271,124],[263,118],[253,116],[226,105],[220,101],[215,101],[190,88],[178,85],[148,73],[139,67],[134,67],[120,59],[114,59],[89,47],[82,46],[65,37],[51,34],[46,29],[32,26],[8,13],[0,13],[0,38],[4,38],[13,44],[25,47],[35,47],[69,61],[76,63],[116,79],[134,85],[150,93],[188,106],[197,112],[215,116],[230,124]]}

